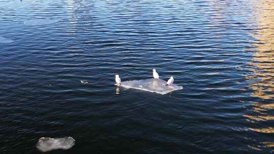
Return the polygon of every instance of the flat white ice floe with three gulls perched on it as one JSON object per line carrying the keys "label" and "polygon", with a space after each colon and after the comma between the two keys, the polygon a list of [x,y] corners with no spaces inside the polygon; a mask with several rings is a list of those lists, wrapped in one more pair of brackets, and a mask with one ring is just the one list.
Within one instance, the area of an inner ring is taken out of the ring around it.
{"label": "flat white ice floe with three gulls perched on it", "polygon": [[146,80],[132,80],[121,82],[121,86],[125,88],[140,89],[158,94],[167,94],[169,92],[183,89],[182,86],[170,85],[165,86],[166,81],[161,79],[146,79]]}

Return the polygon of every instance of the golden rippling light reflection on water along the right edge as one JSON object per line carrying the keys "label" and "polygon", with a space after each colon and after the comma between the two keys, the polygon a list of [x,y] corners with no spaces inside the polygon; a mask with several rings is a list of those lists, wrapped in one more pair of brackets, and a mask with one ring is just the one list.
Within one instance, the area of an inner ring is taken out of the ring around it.
{"label": "golden rippling light reflection on water along the right edge", "polygon": [[[253,115],[245,114],[244,117],[249,122],[262,123],[274,120],[274,115],[271,115],[271,110],[274,109],[274,2],[259,1],[255,5],[260,10],[256,13],[258,30],[253,34],[258,40],[254,43],[257,52],[249,63],[252,74],[247,76],[247,81],[251,81],[249,84],[249,88],[253,90],[251,95],[260,98],[263,102],[254,103]],[[264,124],[263,127],[249,129],[258,133],[274,133],[274,127],[267,125],[269,123]],[[262,146],[249,145],[249,147],[257,150],[274,147],[274,140],[259,142]]]}

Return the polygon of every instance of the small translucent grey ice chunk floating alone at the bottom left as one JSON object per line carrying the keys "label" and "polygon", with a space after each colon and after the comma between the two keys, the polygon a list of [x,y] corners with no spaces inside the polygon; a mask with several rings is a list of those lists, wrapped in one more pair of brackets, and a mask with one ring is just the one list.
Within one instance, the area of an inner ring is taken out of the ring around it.
{"label": "small translucent grey ice chunk floating alone at the bottom left", "polygon": [[49,138],[41,137],[36,144],[36,147],[42,151],[50,151],[55,149],[69,149],[73,147],[75,140],[72,137]]}

